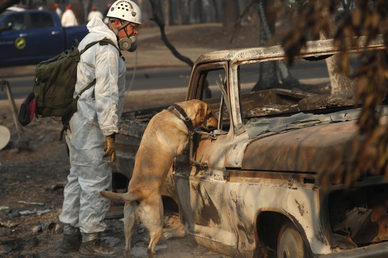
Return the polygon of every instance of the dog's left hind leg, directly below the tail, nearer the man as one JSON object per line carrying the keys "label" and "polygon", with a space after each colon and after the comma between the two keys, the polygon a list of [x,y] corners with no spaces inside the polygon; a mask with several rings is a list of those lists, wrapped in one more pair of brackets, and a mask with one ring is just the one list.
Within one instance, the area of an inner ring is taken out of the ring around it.
{"label": "dog's left hind leg, directly below the tail, nearer the man", "polygon": [[137,224],[137,209],[136,202],[126,202],[124,205],[124,233],[125,233],[125,257],[131,257],[131,239],[133,228]]}

